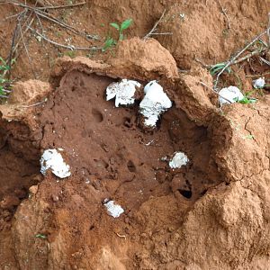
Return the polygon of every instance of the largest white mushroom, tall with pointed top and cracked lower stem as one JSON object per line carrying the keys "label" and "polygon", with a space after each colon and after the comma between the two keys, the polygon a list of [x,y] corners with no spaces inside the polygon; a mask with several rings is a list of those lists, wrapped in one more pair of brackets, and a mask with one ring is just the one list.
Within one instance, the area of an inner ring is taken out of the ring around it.
{"label": "largest white mushroom, tall with pointed top and cracked lower stem", "polygon": [[159,115],[171,108],[173,103],[156,80],[145,85],[144,93],[145,96],[139,103],[139,112],[144,116],[146,126],[155,127]]}

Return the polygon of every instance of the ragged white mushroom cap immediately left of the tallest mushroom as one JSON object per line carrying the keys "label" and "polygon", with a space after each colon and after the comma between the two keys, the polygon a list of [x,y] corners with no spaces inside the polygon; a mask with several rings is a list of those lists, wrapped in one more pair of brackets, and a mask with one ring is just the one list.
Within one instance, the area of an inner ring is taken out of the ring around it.
{"label": "ragged white mushroom cap immediately left of the tallest mushroom", "polygon": [[115,97],[115,107],[133,104],[136,87],[140,87],[139,82],[127,79],[122,79],[119,83],[112,83],[106,89],[106,100]]}

